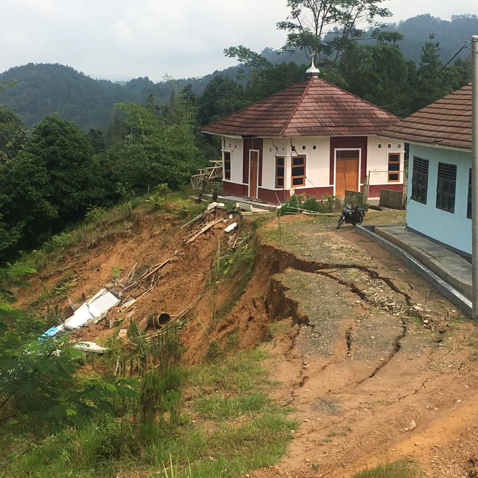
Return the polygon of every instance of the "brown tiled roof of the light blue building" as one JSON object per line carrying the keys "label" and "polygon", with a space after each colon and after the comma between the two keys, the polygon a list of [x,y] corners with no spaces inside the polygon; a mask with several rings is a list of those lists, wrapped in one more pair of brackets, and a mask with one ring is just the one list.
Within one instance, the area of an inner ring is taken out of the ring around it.
{"label": "brown tiled roof of the light blue building", "polygon": [[471,149],[472,84],[418,110],[382,133],[405,141]]}

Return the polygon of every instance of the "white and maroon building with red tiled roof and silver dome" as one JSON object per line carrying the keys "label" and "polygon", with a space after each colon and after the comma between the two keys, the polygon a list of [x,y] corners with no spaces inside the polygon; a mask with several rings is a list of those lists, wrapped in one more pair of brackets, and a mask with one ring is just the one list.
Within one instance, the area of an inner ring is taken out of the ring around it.
{"label": "white and maroon building with red tiled roof and silver dome", "polygon": [[282,202],[291,194],[344,197],[402,191],[404,142],[380,136],[391,113],[318,77],[250,105],[202,131],[221,137],[224,193]]}

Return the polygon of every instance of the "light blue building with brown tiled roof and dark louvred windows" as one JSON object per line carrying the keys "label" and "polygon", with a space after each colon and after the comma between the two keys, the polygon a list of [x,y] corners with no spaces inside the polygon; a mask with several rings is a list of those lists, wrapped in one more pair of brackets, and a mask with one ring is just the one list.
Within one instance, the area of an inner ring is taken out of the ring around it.
{"label": "light blue building with brown tiled roof and dark louvred windows", "polygon": [[383,134],[408,142],[407,227],[461,255],[472,253],[471,84]]}

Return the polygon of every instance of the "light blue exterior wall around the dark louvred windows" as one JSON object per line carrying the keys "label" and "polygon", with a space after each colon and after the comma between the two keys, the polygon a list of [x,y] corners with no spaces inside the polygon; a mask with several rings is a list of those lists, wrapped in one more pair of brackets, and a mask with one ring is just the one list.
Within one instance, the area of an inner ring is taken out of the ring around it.
{"label": "light blue exterior wall around the dark louvred windows", "polygon": [[[427,204],[411,199],[414,156],[428,159]],[[439,162],[457,166],[453,213],[436,207]],[[467,218],[468,178],[471,166],[470,152],[410,144],[407,226],[468,254],[472,253],[472,220]]]}

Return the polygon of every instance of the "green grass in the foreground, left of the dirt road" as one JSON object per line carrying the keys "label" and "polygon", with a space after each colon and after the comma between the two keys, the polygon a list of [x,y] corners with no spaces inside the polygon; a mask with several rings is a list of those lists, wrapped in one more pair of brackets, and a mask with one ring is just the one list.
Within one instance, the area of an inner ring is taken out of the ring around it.
{"label": "green grass in the foreground, left of the dirt road", "polygon": [[[127,427],[127,421],[125,425],[121,419],[110,418],[48,437],[23,456],[7,457],[1,476],[235,478],[274,465],[299,424],[287,417],[288,408],[260,390],[268,383],[262,366],[267,357],[264,351],[253,350],[185,368],[188,386],[235,391],[230,397],[218,393],[193,403],[201,415],[216,421],[214,431],[183,419],[174,433],[141,443],[134,433],[121,428]],[[235,427],[224,422],[239,415],[249,420]]]}

